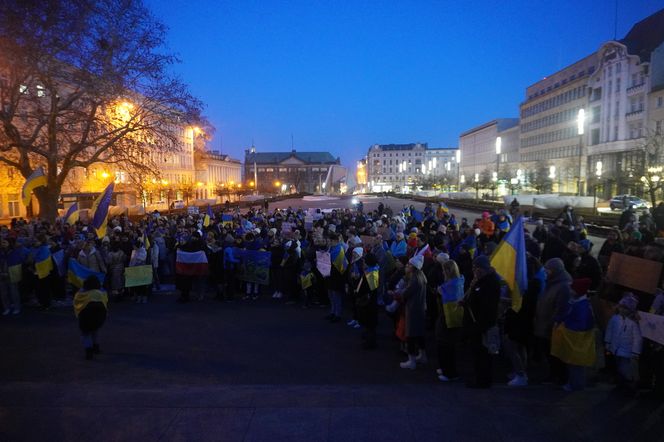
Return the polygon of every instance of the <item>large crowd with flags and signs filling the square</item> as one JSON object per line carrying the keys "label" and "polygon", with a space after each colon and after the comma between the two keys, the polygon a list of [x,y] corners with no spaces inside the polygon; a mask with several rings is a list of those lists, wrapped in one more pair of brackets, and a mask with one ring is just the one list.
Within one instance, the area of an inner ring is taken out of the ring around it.
{"label": "large crowd with flags and signs filling the square", "polygon": [[[385,321],[404,352],[400,367],[430,366],[427,349],[435,348],[440,382],[463,377],[468,386],[488,388],[497,380],[493,365],[502,354],[511,367],[509,386],[528,385],[537,364],[546,380],[580,390],[589,371],[603,368],[625,391],[635,391],[638,381],[664,396],[664,350],[641,337],[638,313],[664,315],[664,292],[618,288],[617,295],[606,296],[615,301],[608,321],[594,311],[598,292],[609,291],[605,275],[612,253],[664,262],[658,224],[649,223],[648,214],[637,222],[627,209],[597,257],[571,207],[551,224],[518,224],[525,226],[528,288],[517,306],[491,257],[518,212],[513,205],[469,220],[457,219],[442,203],[397,212],[382,202],[369,212],[359,205],[326,212],[269,211],[266,205],[245,212],[225,208],[212,216],[117,216],[101,238],[80,221],[17,219],[0,228],[2,309],[4,315],[20,314],[30,303],[49,309],[73,296],[85,355],[92,359],[100,351],[96,332],[109,302],[144,304],[162,284],[174,283],[180,303],[271,296],[302,308],[329,307],[325,319],[358,329],[366,350],[377,347],[376,330]],[[204,252],[208,275],[179,274],[178,250]],[[240,279],[240,250],[270,252],[269,283]],[[72,285],[71,260],[103,274],[103,282],[93,275],[80,289]],[[152,266],[152,284],[125,288],[126,269],[140,265]],[[578,345],[566,331],[592,339]],[[393,345],[384,339],[381,345]],[[472,372],[463,373],[460,352],[472,358]]]}

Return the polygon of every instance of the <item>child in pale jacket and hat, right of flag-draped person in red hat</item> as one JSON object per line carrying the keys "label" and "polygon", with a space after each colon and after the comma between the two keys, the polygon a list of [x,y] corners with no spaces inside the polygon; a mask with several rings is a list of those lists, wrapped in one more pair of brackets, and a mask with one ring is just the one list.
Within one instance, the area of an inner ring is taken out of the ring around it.
{"label": "child in pale jacket and hat, right of flag-draped person in red hat", "polygon": [[616,313],[609,319],[604,333],[606,351],[616,360],[619,386],[629,388],[635,380],[634,361],[641,354],[643,339],[637,318],[638,299],[625,293],[620,299]]}

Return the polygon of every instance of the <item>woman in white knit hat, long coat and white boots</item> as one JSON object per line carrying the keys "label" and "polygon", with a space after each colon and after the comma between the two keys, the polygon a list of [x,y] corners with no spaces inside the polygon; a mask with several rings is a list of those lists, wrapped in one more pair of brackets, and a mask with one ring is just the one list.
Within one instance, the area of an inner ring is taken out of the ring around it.
{"label": "woman in white knit hat, long coat and white boots", "polygon": [[401,368],[414,370],[417,364],[427,362],[424,341],[426,326],[427,279],[422,272],[424,258],[417,255],[408,260],[405,279],[407,285],[400,295],[406,314],[406,343],[408,360],[400,364]]}

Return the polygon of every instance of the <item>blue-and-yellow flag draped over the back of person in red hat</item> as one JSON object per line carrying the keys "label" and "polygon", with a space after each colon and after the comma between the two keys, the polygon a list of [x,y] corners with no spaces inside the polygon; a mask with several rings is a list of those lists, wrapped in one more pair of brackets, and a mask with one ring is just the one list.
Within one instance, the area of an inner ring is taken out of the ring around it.
{"label": "blue-and-yellow flag draped over the back of person in red hat", "polygon": [[571,301],[563,322],[551,334],[551,354],[566,364],[595,365],[595,330],[592,307],[586,296]]}

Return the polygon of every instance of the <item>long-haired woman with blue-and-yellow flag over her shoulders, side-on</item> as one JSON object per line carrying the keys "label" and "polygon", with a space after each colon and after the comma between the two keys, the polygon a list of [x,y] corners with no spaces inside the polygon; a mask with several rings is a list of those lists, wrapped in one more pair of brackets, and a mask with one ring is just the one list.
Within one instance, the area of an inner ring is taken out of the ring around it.
{"label": "long-haired woman with blue-and-yellow flag over her shoulders, side-on", "polygon": [[463,307],[459,302],[464,295],[464,277],[459,273],[456,262],[447,260],[441,264],[444,281],[438,288],[436,321],[436,349],[438,370],[436,374],[441,382],[455,381],[459,378],[456,364],[456,346],[463,326]]}

